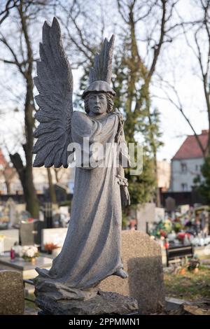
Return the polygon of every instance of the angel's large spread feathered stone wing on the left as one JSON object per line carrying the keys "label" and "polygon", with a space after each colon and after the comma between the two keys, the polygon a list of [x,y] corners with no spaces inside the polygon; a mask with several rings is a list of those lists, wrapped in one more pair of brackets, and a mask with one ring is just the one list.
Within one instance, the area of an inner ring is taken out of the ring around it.
{"label": "angel's large spread feathered stone wing on the left", "polygon": [[40,123],[34,132],[34,167],[68,167],[67,146],[71,143],[71,115],[73,112],[73,76],[62,45],[59,22],[43,25],[40,43],[41,61],[37,62],[34,83],[39,92],[35,97],[39,110],[35,114]]}

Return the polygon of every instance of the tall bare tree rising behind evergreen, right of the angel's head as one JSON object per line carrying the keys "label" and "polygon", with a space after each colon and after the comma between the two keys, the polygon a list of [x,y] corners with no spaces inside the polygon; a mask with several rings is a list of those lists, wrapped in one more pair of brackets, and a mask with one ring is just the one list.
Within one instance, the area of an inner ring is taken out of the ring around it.
{"label": "tall bare tree rising behind evergreen, right of the angel's head", "polygon": [[[139,113],[144,109],[144,116],[148,120],[148,144],[153,153],[155,172],[155,201],[160,207],[160,193],[158,189],[157,151],[161,143],[158,141],[158,126],[154,125],[153,116],[156,113],[151,104],[151,83],[156,71],[160,52],[165,43],[171,43],[176,30],[173,24],[174,10],[178,1],[122,1],[117,0],[118,10],[123,19],[126,31],[129,31],[130,57],[127,64],[130,68],[130,81],[127,92],[128,113],[127,125],[130,125],[132,138],[133,129],[131,121],[137,122]],[[141,33],[142,26],[149,26],[145,36]],[[125,31],[125,33],[126,33]],[[146,43],[146,57],[141,55],[139,39]],[[139,89],[139,85],[141,85]],[[133,110],[134,109],[134,110]],[[157,121],[157,117],[155,118]],[[142,120],[141,120],[142,124]],[[126,129],[126,128],[125,128]],[[129,130],[128,130],[129,131]],[[147,132],[146,132],[147,131]]]}

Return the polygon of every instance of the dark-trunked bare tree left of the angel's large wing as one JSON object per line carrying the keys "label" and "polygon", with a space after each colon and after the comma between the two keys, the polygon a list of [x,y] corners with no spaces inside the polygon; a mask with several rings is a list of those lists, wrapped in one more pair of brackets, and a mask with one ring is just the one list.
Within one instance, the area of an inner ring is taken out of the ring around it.
{"label": "dark-trunked bare tree left of the angel's large wing", "polygon": [[[44,1],[43,1],[44,2]],[[22,159],[20,153],[10,154],[10,160],[18,172],[22,188],[25,195],[27,210],[31,216],[38,218],[38,199],[33,182],[32,173],[32,148],[34,144],[33,129],[34,129],[34,52],[31,45],[31,34],[29,29],[34,22],[34,18],[38,13],[40,1],[13,1],[14,12],[13,20],[17,22],[15,31],[15,44],[11,43],[10,36],[0,34],[1,47],[6,49],[9,57],[1,58],[4,63],[15,67],[22,76],[22,81],[25,85],[25,144],[22,144],[22,149],[25,153],[25,160]]]}

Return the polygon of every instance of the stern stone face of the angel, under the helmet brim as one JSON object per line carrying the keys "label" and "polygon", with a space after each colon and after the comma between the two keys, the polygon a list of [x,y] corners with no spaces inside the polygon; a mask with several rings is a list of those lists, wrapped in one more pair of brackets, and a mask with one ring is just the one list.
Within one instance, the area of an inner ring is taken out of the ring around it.
{"label": "stern stone face of the angel, under the helmet brim", "polygon": [[89,116],[102,116],[106,114],[107,99],[104,92],[91,92],[88,99]]}

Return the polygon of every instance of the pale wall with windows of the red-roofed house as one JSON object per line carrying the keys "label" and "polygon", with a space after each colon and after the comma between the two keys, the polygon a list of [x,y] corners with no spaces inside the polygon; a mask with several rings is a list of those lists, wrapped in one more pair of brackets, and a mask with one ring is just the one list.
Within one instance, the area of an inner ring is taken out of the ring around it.
{"label": "pale wall with windows of the red-roofed house", "polygon": [[[204,163],[203,158],[172,160],[172,192],[190,192],[195,185],[193,180],[201,174],[200,167]],[[183,168],[186,164],[186,168]]]}

